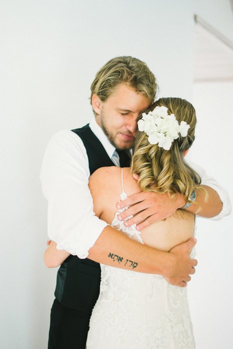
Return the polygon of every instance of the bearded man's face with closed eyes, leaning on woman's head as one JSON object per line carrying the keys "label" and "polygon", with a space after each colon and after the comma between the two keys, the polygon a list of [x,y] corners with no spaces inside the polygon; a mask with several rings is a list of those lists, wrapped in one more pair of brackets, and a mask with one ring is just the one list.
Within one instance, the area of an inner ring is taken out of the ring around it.
{"label": "bearded man's face with closed eyes, leaning on woman's head", "polygon": [[92,98],[97,124],[111,144],[118,149],[132,147],[137,131],[137,118],[149,105],[144,95],[124,84],[116,87],[104,102],[97,95]]}

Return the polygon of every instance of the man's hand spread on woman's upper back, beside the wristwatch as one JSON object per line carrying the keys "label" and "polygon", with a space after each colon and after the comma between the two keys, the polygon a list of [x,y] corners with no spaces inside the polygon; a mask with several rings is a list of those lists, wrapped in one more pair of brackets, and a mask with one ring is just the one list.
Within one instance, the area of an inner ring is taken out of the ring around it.
{"label": "man's hand spread on woman's upper back, beside the wristwatch", "polygon": [[132,215],[133,217],[124,222],[124,225],[131,226],[136,223],[136,229],[142,230],[153,222],[170,217],[178,208],[184,205],[183,194],[177,193],[176,197],[171,199],[168,193],[140,192],[117,204],[118,209],[130,206],[118,215],[118,219],[123,220]]}

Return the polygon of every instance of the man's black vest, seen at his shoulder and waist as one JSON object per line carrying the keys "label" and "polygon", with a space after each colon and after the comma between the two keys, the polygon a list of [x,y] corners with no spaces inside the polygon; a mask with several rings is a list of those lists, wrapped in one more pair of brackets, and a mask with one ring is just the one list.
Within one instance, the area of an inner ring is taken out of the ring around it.
{"label": "man's black vest, seen at his shoulder and waist", "polygon": [[[81,138],[86,148],[90,174],[99,167],[114,166],[88,124],[72,131]],[[57,272],[55,297],[66,307],[91,313],[99,295],[99,284],[99,264],[70,255]]]}

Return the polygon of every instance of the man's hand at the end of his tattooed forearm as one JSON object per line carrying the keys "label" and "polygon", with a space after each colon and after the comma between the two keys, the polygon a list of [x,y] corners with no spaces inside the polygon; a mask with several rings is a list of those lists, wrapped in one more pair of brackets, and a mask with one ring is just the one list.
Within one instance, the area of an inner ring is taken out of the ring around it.
{"label": "man's hand at the end of his tattooed forearm", "polygon": [[170,250],[172,267],[170,276],[164,277],[169,284],[185,287],[187,282],[191,280],[190,275],[195,273],[194,267],[197,265],[197,260],[190,259],[189,255],[195,244],[196,239],[190,239]]}

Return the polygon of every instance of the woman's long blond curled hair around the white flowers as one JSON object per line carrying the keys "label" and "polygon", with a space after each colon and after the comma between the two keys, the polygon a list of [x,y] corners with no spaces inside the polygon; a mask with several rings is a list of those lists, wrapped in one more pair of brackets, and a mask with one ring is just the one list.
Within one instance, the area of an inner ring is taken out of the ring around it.
{"label": "woman's long blond curled hair around the white flowers", "polygon": [[178,192],[184,194],[186,202],[191,202],[190,195],[193,190],[200,189],[201,180],[184,160],[183,152],[190,148],[195,139],[195,109],[181,98],[160,98],[145,113],[156,106],[167,107],[168,114],[174,114],[179,124],[186,121],[190,128],[186,137],[179,135],[174,139],[169,150],[150,144],[146,133],[137,131],[131,173],[139,176],[138,186],[142,191],[167,192],[171,198]]}

